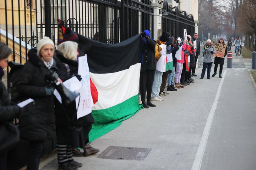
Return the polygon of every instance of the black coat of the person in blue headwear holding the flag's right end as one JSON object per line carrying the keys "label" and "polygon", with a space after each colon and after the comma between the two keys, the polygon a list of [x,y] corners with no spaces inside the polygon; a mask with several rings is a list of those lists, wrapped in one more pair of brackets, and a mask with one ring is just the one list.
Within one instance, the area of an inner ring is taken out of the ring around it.
{"label": "black coat of the person in blue headwear holding the flag's right end", "polygon": [[156,59],[155,59],[155,41],[150,38],[146,40],[148,44],[144,44],[144,49],[142,53],[142,61],[140,71],[152,70],[156,69]]}

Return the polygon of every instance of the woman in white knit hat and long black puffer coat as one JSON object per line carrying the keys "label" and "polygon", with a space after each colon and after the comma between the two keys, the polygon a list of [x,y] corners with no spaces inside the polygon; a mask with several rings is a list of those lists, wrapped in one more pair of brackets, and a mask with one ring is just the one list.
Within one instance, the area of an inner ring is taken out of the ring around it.
{"label": "woman in white knit hat and long black puffer coat", "polygon": [[54,57],[54,43],[41,39],[37,48],[29,50],[29,60],[20,73],[18,92],[24,99],[34,99],[19,117],[20,136],[30,142],[27,170],[38,170],[44,141],[55,137],[54,87],[47,80],[50,71],[64,74],[61,63]]}

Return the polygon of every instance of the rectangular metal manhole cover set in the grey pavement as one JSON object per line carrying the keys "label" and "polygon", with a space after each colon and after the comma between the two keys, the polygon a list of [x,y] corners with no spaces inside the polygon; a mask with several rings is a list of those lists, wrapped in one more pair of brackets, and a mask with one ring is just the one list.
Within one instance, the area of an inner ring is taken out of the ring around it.
{"label": "rectangular metal manhole cover set in the grey pavement", "polygon": [[109,146],[98,158],[142,161],[151,149],[138,147]]}

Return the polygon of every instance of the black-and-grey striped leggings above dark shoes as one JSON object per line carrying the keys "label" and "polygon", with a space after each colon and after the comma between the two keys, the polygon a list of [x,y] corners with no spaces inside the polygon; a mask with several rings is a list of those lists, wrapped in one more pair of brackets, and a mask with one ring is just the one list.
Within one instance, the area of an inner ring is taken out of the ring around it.
{"label": "black-and-grey striped leggings above dark shoes", "polygon": [[57,157],[59,164],[65,164],[67,162],[73,161],[73,154],[72,154],[72,146],[67,144],[62,144],[57,141]]}

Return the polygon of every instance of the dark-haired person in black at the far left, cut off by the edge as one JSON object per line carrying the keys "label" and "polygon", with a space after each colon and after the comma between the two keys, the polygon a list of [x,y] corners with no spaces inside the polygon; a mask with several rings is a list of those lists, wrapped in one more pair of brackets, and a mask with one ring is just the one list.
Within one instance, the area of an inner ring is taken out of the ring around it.
{"label": "dark-haired person in black at the far left, cut off by the edge", "polygon": [[[16,104],[12,104],[9,98],[9,93],[2,82],[4,76],[5,67],[8,66],[8,57],[12,54],[10,48],[7,47],[3,42],[0,42],[0,126],[4,126],[5,123],[13,123],[15,117],[19,117],[21,108]],[[1,131],[2,132],[2,131]],[[8,135],[8,133],[6,134]],[[0,135],[1,141],[4,138],[3,134]],[[10,141],[6,141],[8,143]],[[3,146],[2,146],[3,147]],[[6,154],[8,148],[3,147],[0,150],[0,167],[1,170],[6,170]]]}

